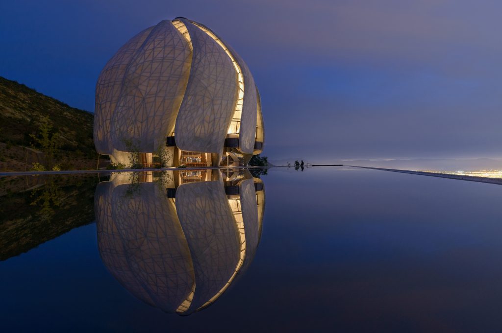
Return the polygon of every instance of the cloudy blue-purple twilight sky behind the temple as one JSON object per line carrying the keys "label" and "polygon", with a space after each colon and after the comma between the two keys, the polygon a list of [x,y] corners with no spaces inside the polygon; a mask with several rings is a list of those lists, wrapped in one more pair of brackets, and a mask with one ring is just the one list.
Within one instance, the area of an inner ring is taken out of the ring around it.
{"label": "cloudy blue-purple twilight sky behind the temple", "polygon": [[93,111],[115,51],[182,16],[248,64],[271,159],[502,157],[501,12],[491,0],[3,1],[0,76]]}

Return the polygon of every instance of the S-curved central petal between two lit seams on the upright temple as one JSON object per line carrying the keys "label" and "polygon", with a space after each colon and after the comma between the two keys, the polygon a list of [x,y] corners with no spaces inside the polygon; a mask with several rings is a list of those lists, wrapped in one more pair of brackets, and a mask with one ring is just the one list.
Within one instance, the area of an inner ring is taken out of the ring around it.
{"label": "S-curved central petal between two lit seams on the upright temple", "polygon": [[182,150],[220,153],[237,97],[237,78],[223,49],[186,19],[193,46],[192,67],[176,119],[176,145]]}

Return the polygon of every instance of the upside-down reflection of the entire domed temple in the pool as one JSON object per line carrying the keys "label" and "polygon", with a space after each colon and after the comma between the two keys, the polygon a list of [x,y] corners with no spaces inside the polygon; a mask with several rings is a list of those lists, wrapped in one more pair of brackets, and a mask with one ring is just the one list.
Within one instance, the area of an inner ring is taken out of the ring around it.
{"label": "upside-down reflection of the entire domed temple in the pool", "polygon": [[186,315],[253,260],[265,191],[245,169],[121,173],[99,183],[94,200],[110,273],[146,303]]}

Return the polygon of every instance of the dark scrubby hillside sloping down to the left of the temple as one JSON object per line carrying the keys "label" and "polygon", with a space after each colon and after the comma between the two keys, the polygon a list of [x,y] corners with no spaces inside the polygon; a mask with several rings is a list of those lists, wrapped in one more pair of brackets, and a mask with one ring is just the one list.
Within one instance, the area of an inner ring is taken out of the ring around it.
{"label": "dark scrubby hillside sloping down to the left of the temple", "polygon": [[0,77],[0,171],[30,170],[32,162],[43,162],[44,154],[39,151],[43,149],[30,134],[40,135],[44,116],[49,117],[52,132],[59,135],[56,159],[62,169],[92,169],[96,160],[94,115]]}

